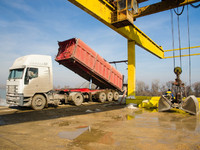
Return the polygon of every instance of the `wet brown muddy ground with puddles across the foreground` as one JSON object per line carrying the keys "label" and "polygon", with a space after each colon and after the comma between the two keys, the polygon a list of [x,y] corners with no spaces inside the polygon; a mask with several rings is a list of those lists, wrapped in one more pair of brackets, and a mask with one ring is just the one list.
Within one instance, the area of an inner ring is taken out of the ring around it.
{"label": "wet brown muddy ground with puddles across the foreground", "polygon": [[[0,149],[200,150],[199,119],[115,103],[42,111],[0,107]],[[86,131],[69,139],[80,129]],[[60,136],[62,133],[66,137]]]}

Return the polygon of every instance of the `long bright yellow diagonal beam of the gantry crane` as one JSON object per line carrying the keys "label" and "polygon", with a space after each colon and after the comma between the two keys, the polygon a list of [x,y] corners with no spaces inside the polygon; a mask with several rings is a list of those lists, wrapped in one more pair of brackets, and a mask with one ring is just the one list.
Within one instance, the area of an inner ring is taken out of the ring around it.
{"label": "long bright yellow diagonal beam of the gantry crane", "polygon": [[130,25],[126,27],[116,28],[111,25],[113,17],[113,8],[109,6],[104,0],[68,0],[77,7],[81,8],[88,14],[92,15],[114,31],[118,32],[128,40],[135,41],[135,43],[154,54],[159,58],[164,58],[164,51],[162,47],[158,46],[152,39],[143,33],[137,26]]}

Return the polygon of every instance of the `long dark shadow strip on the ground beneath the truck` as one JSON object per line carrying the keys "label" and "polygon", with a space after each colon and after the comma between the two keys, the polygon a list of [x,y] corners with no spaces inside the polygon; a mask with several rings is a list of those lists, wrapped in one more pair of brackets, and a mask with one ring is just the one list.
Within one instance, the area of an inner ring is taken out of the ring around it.
{"label": "long dark shadow strip on the ground beneath the truck", "polygon": [[41,121],[56,119],[61,117],[70,117],[75,115],[85,115],[89,113],[98,113],[124,108],[124,105],[115,103],[92,104],[82,106],[61,106],[50,107],[44,110],[35,111],[27,107],[10,107],[13,109],[8,112],[0,112],[0,126],[18,124],[31,121]]}

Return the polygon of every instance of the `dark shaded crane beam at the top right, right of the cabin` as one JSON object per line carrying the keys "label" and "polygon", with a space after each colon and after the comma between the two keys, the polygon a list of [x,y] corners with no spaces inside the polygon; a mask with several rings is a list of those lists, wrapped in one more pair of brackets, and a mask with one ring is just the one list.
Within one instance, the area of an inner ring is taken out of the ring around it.
{"label": "dark shaded crane beam at the top right, right of the cabin", "polygon": [[150,14],[158,13],[161,11],[169,10],[172,8],[177,8],[187,4],[199,2],[200,0],[163,0],[159,3],[147,5],[138,9],[138,13],[134,15],[134,18],[139,18],[142,16],[147,16]]}

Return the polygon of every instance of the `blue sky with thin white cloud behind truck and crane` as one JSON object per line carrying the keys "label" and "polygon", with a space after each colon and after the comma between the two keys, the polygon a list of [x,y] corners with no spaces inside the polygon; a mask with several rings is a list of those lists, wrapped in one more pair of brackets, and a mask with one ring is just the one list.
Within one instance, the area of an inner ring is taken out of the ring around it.
{"label": "blue sky with thin white cloud behind truck and crane", "polygon": [[[146,5],[144,3],[142,5]],[[141,5],[141,6],[142,6]],[[187,9],[180,16],[181,47],[188,47]],[[189,6],[191,46],[200,45],[200,9]],[[175,48],[178,48],[174,14]],[[170,11],[138,18],[135,24],[163,49],[172,49]],[[67,0],[0,0],[0,84],[6,84],[8,68],[24,55],[44,54],[54,59],[57,41],[77,37],[107,61],[127,59],[127,40]],[[199,53],[199,49],[191,50]],[[188,51],[182,52],[188,54]],[[172,55],[172,53],[169,53]],[[178,55],[178,51],[176,52]],[[192,59],[192,83],[200,81],[200,56]],[[179,58],[176,58],[176,66]],[[182,58],[181,78],[188,83],[188,57]],[[127,65],[117,69],[127,78]],[[54,85],[78,87],[85,80],[53,60]],[[174,80],[173,59],[161,60],[136,46],[136,79],[151,84]]]}

